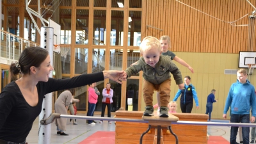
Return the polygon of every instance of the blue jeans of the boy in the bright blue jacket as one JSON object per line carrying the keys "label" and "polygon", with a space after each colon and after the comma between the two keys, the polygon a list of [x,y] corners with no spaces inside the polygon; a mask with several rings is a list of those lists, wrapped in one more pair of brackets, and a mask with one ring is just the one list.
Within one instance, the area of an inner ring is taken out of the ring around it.
{"label": "blue jeans of the boy in the bright blue jacket", "polygon": [[[230,122],[232,123],[250,123],[250,115],[235,115],[231,114]],[[230,129],[230,144],[236,144],[238,127],[231,127]],[[250,127],[242,127],[243,143],[249,143]]]}

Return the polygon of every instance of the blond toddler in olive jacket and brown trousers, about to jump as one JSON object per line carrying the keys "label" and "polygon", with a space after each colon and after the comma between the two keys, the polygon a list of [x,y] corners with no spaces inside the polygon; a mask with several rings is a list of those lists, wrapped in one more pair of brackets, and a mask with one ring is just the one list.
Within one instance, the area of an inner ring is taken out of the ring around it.
{"label": "blond toddler in olive jacket and brown trousers, about to jump", "polygon": [[146,104],[144,116],[153,116],[153,93],[154,90],[160,95],[160,114],[161,117],[168,117],[168,103],[170,100],[170,72],[172,73],[179,89],[184,88],[183,79],[179,68],[172,63],[170,56],[161,56],[161,43],[157,38],[147,36],[140,44],[142,57],[138,63],[125,70],[127,77],[136,75],[143,71],[143,97]]}

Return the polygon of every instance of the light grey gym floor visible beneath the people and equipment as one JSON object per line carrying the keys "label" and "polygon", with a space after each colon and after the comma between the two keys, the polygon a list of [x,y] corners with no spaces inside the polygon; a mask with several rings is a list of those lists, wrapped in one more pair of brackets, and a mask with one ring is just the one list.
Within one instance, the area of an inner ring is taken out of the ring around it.
{"label": "light grey gym floor visible beneath the people and equipment", "polygon": [[[95,115],[99,116],[99,115]],[[88,125],[86,124],[86,120],[77,119],[78,125],[73,125],[72,122],[67,120],[67,131],[65,133],[68,136],[61,136],[56,132],[56,125],[54,122],[51,124],[51,144],[60,144],[60,143],[81,143],[81,141],[86,140],[92,134],[98,131],[112,131],[115,132],[115,122],[109,124],[107,121],[104,121],[102,124],[99,124],[99,120],[95,120],[97,124],[95,125]],[[228,120],[212,120],[212,122],[227,122]],[[39,127],[39,120],[36,118],[35,122],[33,123],[33,127],[29,132],[27,137],[28,144],[35,144],[38,143],[38,127]],[[209,136],[221,136],[225,140],[229,141],[230,138],[230,127],[229,126],[208,126],[207,134]],[[113,140],[109,140],[108,138],[104,139],[104,143],[113,143]],[[237,142],[239,143],[239,136],[237,135]],[[93,142],[92,142],[93,143]]]}

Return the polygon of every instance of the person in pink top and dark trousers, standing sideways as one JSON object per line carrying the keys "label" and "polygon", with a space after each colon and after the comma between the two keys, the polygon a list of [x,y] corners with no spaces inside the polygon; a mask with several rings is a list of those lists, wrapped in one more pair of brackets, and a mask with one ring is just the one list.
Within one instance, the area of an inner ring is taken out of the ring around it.
{"label": "person in pink top and dark trousers, standing sideways", "polygon": [[[89,105],[88,105],[87,116],[93,116],[93,113],[94,113],[94,110],[96,107],[96,103],[98,101],[98,95],[95,93],[95,90],[94,90],[95,86],[96,86],[96,83],[89,84],[89,88],[88,88]],[[93,122],[93,120],[88,120],[88,124],[95,125],[95,122]]]}

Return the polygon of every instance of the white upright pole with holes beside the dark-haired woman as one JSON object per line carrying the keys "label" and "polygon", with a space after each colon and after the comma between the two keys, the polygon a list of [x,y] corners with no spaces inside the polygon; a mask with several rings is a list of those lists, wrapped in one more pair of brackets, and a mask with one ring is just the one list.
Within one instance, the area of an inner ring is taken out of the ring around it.
{"label": "white upright pole with holes beside the dark-haired woman", "polygon": [[[49,52],[51,58],[52,65],[52,57],[53,57],[53,28],[51,27],[42,27],[41,28],[41,47],[46,49]],[[52,77],[52,71],[49,77]],[[42,111],[39,115],[40,120],[47,118],[52,113],[52,93],[48,93],[45,95]],[[38,132],[38,143],[45,144],[51,143],[51,124],[50,125],[39,125]]]}

